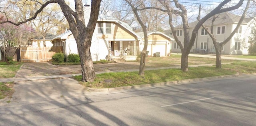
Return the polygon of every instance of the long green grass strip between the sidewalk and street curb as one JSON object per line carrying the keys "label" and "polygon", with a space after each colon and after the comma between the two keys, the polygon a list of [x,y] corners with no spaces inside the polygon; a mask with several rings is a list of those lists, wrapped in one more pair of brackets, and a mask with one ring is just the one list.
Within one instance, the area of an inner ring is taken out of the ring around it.
{"label": "long green grass strip between the sidewalk and street curb", "polygon": [[[236,74],[236,72],[246,74],[255,73],[256,62],[234,62],[232,64],[222,65],[222,69],[216,69],[214,66],[193,67],[189,68],[189,72],[182,72],[179,69],[149,70],[145,71],[144,77],[139,76],[138,72],[104,73],[97,74],[94,82],[80,82],[80,84],[90,88],[112,88],[192,78],[231,75]],[[74,79],[81,80],[82,76],[74,76]],[[105,80],[111,80],[112,82],[108,83],[105,82]]]}

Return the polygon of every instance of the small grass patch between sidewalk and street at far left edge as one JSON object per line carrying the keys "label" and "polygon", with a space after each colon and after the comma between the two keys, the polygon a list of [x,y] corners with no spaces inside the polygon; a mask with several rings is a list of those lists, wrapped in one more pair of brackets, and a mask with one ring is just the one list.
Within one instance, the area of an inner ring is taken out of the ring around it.
{"label": "small grass patch between sidewalk and street at far left edge", "polygon": [[6,96],[8,96],[8,98],[12,96],[14,93],[13,85],[13,82],[0,83],[0,99],[5,98]]}

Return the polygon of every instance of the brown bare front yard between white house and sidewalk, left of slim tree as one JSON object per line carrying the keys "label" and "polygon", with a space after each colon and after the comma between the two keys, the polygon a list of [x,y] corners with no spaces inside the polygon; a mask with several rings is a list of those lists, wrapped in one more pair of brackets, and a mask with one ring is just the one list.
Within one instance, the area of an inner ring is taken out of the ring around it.
{"label": "brown bare front yard between white house and sidewalk, left of slim tree", "polygon": [[[118,71],[128,69],[138,69],[140,63],[138,62],[118,62],[110,64],[94,64],[94,70],[99,71]],[[29,76],[48,76],[48,75],[62,75],[62,74],[78,74],[81,73],[81,65],[60,66],[52,65],[51,62],[24,62],[19,72],[16,74],[17,78]]]}

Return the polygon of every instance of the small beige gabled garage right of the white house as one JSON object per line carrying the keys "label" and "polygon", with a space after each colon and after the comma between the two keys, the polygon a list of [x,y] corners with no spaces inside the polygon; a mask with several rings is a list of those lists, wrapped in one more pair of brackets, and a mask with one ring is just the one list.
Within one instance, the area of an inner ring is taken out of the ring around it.
{"label": "small beige gabled garage right of the white house", "polygon": [[[148,56],[154,56],[154,53],[160,52],[160,56],[168,56],[170,53],[170,44],[174,41],[173,38],[158,31],[148,31]],[[144,48],[144,33],[137,33],[141,38],[140,50]]]}

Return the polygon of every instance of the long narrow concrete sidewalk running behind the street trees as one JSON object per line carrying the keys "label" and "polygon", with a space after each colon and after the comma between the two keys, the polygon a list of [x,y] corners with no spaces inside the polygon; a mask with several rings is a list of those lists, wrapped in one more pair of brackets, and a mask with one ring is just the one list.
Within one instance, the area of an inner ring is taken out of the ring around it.
{"label": "long narrow concrete sidewalk running behind the street trees", "polygon": [[[222,64],[231,64],[231,63],[222,63]],[[198,67],[198,66],[213,66],[215,64],[199,64],[199,65],[189,65],[188,67]],[[160,67],[160,68],[145,68],[145,70],[160,70],[160,69],[172,69],[172,68],[180,68],[180,66],[173,67]],[[95,72],[96,74],[102,74],[107,72],[133,72],[139,71],[139,69],[130,69],[130,70],[109,70],[109,71],[100,71]],[[50,76],[31,76],[24,78],[0,78],[0,82],[20,82],[20,81],[28,81],[28,80],[43,80],[43,79],[52,79],[52,78],[70,78],[72,76],[78,76],[80,74],[63,74],[63,75],[50,75]]]}

